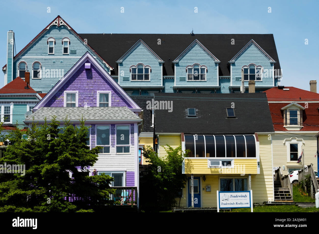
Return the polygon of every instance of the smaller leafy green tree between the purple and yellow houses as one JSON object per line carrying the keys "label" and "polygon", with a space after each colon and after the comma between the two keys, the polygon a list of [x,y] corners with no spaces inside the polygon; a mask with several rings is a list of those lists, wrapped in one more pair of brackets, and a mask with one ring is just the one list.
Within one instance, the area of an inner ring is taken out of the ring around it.
{"label": "smaller leafy green tree between the purple and yellow houses", "polygon": [[[182,174],[182,162],[184,153],[182,146],[173,149],[167,145],[165,148],[167,157],[159,158],[150,146],[143,149],[146,162],[152,163],[151,174],[148,178],[152,185],[149,196],[157,198],[159,209],[171,209],[174,207],[181,188],[185,188],[187,176]],[[188,153],[188,152],[186,152]]]}

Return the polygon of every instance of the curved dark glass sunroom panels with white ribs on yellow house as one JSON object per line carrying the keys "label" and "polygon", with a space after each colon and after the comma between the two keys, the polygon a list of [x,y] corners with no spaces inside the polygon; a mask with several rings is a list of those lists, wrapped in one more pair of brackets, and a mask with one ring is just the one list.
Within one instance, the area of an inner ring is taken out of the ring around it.
{"label": "curved dark glass sunroom panels with white ribs on yellow house", "polygon": [[254,135],[184,135],[190,158],[256,158]]}

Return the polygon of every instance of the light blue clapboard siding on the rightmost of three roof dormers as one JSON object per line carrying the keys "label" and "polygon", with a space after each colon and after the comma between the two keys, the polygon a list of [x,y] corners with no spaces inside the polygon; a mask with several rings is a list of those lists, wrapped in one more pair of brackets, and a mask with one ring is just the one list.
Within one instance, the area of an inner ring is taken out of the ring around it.
{"label": "light blue clapboard siding on the rightmost of three roof dormers", "polygon": [[[241,77],[242,66],[248,66],[250,63],[263,67],[262,81],[256,81],[256,86],[273,86],[272,64],[253,44],[232,64],[233,86],[241,86],[241,81],[236,81],[235,77]],[[248,81],[245,81],[245,86],[248,86]]]}

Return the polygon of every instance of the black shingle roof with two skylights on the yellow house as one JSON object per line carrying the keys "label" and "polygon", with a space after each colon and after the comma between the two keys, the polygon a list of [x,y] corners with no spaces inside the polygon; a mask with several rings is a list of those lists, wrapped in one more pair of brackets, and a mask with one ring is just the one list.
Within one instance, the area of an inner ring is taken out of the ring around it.
{"label": "black shingle roof with two skylights on the yellow house", "polygon": [[[173,101],[173,111],[155,110],[156,133],[253,134],[273,132],[265,93],[155,94],[156,100]],[[234,103],[235,119],[227,119],[226,108]],[[196,108],[197,117],[188,117]]]}

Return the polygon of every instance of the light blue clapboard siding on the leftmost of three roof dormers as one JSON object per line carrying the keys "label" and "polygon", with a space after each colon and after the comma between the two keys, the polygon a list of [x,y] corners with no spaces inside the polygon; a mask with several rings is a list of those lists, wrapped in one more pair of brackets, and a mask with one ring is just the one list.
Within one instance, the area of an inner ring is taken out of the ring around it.
{"label": "light blue clapboard siding on the leftmost of three roof dormers", "polygon": [[[150,81],[131,81],[130,67],[143,63],[151,67]],[[140,44],[119,64],[119,82],[121,86],[161,86],[162,64]],[[128,80],[128,81],[123,81]]]}

